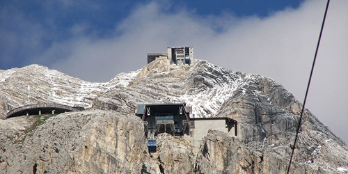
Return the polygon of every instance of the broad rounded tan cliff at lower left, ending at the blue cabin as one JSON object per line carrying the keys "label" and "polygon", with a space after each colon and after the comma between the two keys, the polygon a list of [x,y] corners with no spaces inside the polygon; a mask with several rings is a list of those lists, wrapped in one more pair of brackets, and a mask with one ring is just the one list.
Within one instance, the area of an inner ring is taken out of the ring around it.
{"label": "broad rounded tan cliff at lower left, ending at the blue cabin", "polygon": [[[84,111],[51,117],[14,148],[5,173],[130,173],[148,158],[143,123],[111,111]],[[3,146],[8,148],[8,146]],[[20,150],[23,153],[18,153]],[[25,152],[25,153],[24,153]]]}

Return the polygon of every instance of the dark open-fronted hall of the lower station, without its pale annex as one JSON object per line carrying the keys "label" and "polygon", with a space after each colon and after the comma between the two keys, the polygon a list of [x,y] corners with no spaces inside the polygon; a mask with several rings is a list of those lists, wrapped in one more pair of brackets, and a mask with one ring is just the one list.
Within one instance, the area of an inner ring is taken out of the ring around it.
{"label": "dark open-fronted hall of the lower station, without its pale annex", "polygon": [[189,134],[191,106],[179,104],[139,104],[136,116],[144,122],[145,134],[155,131],[155,136],[166,132],[172,135]]}

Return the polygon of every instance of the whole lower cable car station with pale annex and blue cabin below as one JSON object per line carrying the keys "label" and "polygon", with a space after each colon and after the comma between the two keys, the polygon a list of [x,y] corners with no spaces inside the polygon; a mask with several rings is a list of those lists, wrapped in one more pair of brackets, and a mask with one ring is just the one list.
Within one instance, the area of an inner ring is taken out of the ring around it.
{"label": "whole lower cable car station with pale annex and blue cabin below", "polygon": [[[136,116],[143,120],[144,134],[148,138],[149,152],[156,152],[156,137],[167,133],[173,136],[188,137],[193,147],[209,129],[220,130],[229,136],[237,136],[237,121],[232,118],[191,118],[192,107],[186,103],[139,104]],[[235,129],[232,129],[232,128]]]}

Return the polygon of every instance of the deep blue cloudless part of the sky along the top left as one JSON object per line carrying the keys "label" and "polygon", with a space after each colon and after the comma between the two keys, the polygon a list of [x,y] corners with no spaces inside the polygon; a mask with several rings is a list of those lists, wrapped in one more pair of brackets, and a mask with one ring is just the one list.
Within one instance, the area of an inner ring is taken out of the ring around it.
{"label": "deep blue cloudless part of the sky along the top left", "polygon": [[[157,1],[163,13],[180,13],[209,18],[221,15],[234,17],[267,17],[285,8],[297,8],[301,1]],[[0,69],[22,67],[56,42],[77,35],[107,38],[122,35],[115,29],[136,8],[152,1],[1,1]],[[221,28],[216,26],[216,31]],[[79,32],[82,33],[77,33]],[[74,32],[75,31],[75,32]],[[166,47],[166,46],[164,46]],[[64,55],[62,55],[64,58]],[[86,78],[84,78],[86,79]],[[98,80],[98,79],[92,79]]]}

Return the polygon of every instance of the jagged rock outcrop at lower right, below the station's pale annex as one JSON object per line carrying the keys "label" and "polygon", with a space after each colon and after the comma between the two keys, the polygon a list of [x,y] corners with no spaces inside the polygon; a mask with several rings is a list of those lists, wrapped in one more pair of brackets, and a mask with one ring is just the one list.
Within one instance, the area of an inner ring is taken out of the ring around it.
{"label": "jagged rock outcrop at lower right, below the station's pale annex", "polygon": [[[291,152],[290,146],[274,147],[245,144],[235,137],[229,137],[220,131],[209,131],[200,146],[196,160],[196,173],[287,173]],[[301,150],[300,150],[301,151]],[[317,150],[317,155],[319,155]],[[300,153],[297,151],[296,153]],[[347,155],[347,153],[346,153]],[[335,170],[338,164],[303,165],[294,162],[290,173],[340,173]],[[324,162],[325,163],[325,162]],[[342,164],[339,164],[342,165]],[[343,164],[347,165],[347,164]]]}

